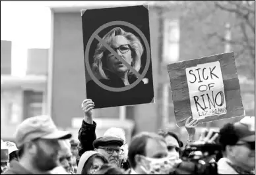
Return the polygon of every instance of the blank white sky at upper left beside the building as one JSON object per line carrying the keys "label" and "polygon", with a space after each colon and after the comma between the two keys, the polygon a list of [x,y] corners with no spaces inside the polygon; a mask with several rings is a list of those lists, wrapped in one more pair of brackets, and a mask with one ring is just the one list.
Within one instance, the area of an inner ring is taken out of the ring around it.
{"label": "blank white sky at upper left beside the building", "polygon": [[12,74],[26,73],[28,48],[49,48],[49,7],[140,5],[144,1],[1,1],[1,40],[12,41]]}

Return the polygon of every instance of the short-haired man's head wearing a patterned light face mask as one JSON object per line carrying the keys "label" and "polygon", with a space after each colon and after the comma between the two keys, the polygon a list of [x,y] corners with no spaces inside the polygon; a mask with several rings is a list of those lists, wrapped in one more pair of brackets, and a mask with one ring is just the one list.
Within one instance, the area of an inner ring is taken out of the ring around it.
{"label": "short-haired man's head wearing a patterned light face mask", "polygon": [[137,173],[153,172],[156,164],[162,166],[160,171],[164,173],[169,166],[166,141],[162,136],[150,132],[141,132],[132,138],[128,158]]}

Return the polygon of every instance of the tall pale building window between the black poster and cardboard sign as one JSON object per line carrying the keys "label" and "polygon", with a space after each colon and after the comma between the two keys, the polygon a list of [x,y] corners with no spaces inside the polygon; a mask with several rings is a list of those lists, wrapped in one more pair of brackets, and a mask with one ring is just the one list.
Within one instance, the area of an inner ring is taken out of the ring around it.
{"label": "tall pale building window between the black poster and cardboard sign", "polygon": [[170,64],[179,61],[179,20],[164,20],[163,62]]}

